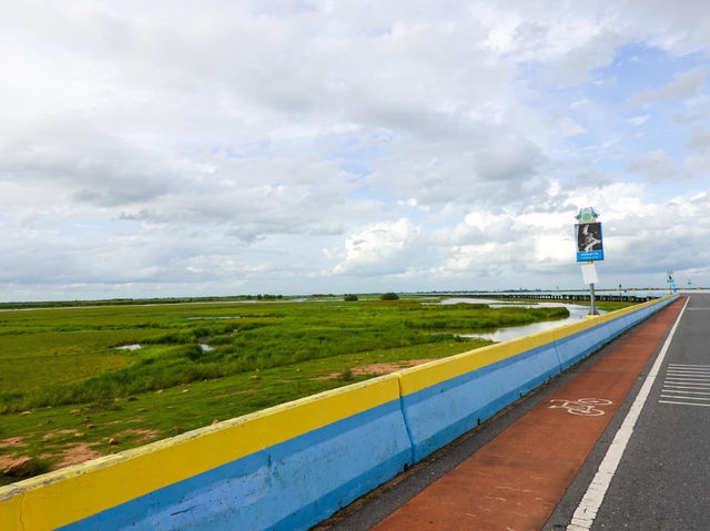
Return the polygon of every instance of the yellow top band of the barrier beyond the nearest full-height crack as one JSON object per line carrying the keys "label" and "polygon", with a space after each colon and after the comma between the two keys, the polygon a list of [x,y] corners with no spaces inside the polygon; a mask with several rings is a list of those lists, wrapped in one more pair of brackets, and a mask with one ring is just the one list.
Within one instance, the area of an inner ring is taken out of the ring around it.
{"label": "yellow top band of the barrier beyond the nearest full-height crack", "polygon": [[412,395],[413,392],[420,391],[422,389],[435,386],[437,384],[440,384],[442,381],[446,381],[452,378],[465,375],[467,372],[470,372],[471,370],[486,367],[487,365],[501,361],[511,356],[525,353],[526,350],[540,347],[554,340],[562,339],[567,336],[578,334],[602,323],[607,323],[627,314],[638,312],[650,305],[658,304],[660,300],[665,300],[667,298],[668,296],[657,300],[649,300],[647,303],[629,306],[616,312],[610,312],[591,319],[585,319],[580,320],[579,323],[562,325],[559,328],[555,328],[552,330],[546,330],[538,334],[532,334],[530,336],[513,339],[510,341],[489,345],[487,347],[463,353],[457,356],[432,361],[430,364],[404,369],[399,371],[399,385],[402,387],[402,395]]}

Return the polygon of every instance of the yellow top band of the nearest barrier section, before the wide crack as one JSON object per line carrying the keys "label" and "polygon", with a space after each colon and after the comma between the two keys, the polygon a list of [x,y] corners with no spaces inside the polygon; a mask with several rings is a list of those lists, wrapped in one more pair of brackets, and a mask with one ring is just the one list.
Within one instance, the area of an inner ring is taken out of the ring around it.
{"label": "yellow top band of the nearest barrier section, before the wide crack", "polygon": [[399,398],[388,375],[0,488],[0,529],[47,530]]}

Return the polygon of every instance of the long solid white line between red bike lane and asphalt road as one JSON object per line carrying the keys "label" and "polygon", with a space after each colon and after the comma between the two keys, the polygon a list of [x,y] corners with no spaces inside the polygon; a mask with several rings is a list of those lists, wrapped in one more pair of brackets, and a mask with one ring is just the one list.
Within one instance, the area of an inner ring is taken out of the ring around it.
{"label": "long solid white line between red bike lane and asphalt road", "polygon": [[[636,421],[643,409],[643,405],[648,399],[649,392],[651,392],[651,387],[658,377],[658,371],[666,358],[666,353],[668,353],[668,347],[670,346],[670,341],[676,334],[676,328],[678,328],[678,323],[680,323],[680,318],[683,316],[683,312],[686,310],[686,306],[688,306],[688,300],[686,299],[686,304],[683,304],[682,309],[678,314],[676,318],[676,323],[673,323],[673,327],[670,329],[670,334],[666,338],[666,343],[661,347],[661,351],[658,353],[658,357],[653,362],[653,367],[649,371],[646,380],[643,380],[643,385],[639,390],[629,412],[626,415],[619,431],[613,436],[613,440],[607,450],[607,455],[604,457],[601,464],[599,464],[599,469],[595,474],[595,478],[589,483],[589,488],[585,496],[581,498],[575,514],[572,515],[571,525],[567,527],[567,531],[580,531],[587,530],[591,528],[591,524],[595,522],[595,517],[597,515],[597,511],[601,507],[601,502],[604,501],[604,497],[607,493],[607,489],[611,483],[611,478],[617,471],[617,467],[621,461],[621,457],[623,456],[623,451],[626,450],[626,446],[631,438],[631,433],[633,432],[633,427],[636,426]],[[574,527],[572,527],[574,525]]]}

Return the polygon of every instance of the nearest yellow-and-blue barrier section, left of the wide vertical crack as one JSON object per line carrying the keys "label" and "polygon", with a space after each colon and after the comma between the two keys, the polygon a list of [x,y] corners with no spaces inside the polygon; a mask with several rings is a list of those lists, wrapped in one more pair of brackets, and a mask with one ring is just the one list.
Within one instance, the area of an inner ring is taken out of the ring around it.
{"label": "nearest yellow-and-blue barrier section, left of the wide vertical crack", "polygon": [[307,529],[410,462],[385,376],[0,488],[0,529]]}

